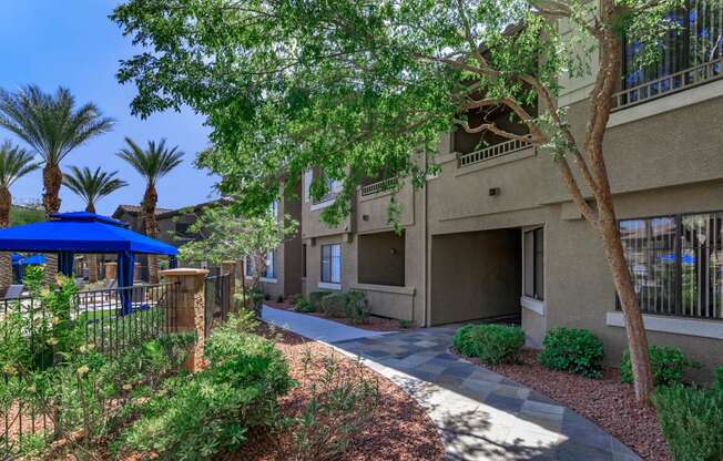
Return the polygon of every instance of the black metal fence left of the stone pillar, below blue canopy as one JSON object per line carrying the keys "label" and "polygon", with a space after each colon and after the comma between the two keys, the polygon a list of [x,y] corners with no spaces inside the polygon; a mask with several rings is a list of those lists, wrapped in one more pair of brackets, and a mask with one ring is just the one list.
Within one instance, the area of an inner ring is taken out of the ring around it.
{"label": "black metal fence left of the stone pillar, below blue canopy", "polygon": [[[157,284],[81,291],[71,295],[65,303],[61,299],[55,306],[28,296],[4,299],[0,300],[0,337],[3,347],[13,344],[27,350],[27,365],[37,369],[55,366],[58,352],[63,351],[63,345],[59,344],[64,336],[61,329],[72,331],[85,345],[113,358],[130,347],[174,331],[176,310],[173,307],[177,296],[179,284]],[[59,307],[61,304],[64,307]],[[12,392],[4,392],[13,372],[13,369],[0,370],[6,387],[1,395],[7,400],[2,402],[0,417],[0,457],[3,459],[23,436],[47,433],[51,426],[49,416],[38,414],[32,406],[12,400],[8,397]]]}

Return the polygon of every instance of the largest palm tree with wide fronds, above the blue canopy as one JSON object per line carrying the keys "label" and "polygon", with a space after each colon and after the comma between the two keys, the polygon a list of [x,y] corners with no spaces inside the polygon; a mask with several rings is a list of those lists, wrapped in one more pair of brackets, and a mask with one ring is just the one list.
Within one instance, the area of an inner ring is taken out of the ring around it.
{"label": "largest palm tree with wide fronds, above the blue canopy", "polygon": [[113,124],[93,103],[75,110],[75,98],[64,88],[55,94],[43,93],[37,85],[17,93],[0,90],[0,126],[28,143],[44,162],[43,206],[48,215],[60,209],[62,160],[88,140],[111,131]]}

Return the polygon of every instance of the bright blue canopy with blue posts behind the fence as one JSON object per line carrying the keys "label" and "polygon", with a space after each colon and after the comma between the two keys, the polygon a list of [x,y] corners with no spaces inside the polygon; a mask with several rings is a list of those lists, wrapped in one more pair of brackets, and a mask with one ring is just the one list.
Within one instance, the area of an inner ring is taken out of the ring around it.
{"label": "bright blue canopy with blue posts behind the fence", "polygon": [[[73,274],[73,255],[118,255],[119,287],[133,286],[136,254],[165,255],[175,258],[172,245],[130,230],[125,223],[93,213],[61,213],[49,221],[0,229],[0,252],[57,253],[58,269]],[[121,290],[123,314],[132,310],[128,289]]]}

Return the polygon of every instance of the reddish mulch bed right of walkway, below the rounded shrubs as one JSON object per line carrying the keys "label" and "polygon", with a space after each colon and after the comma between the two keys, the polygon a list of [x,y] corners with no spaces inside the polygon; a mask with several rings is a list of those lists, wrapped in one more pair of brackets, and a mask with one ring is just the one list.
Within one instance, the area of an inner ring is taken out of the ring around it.
{"label": "reddish mulch bed right of walkway, below the rounded shrubs", "polygon": [[638,403],[632,386],[620,382],[620,371],[614,368],[605,367],[602,379],[552,371],[538,362],[537,351],[531,349],[522,350],[521,363],[483,367],[573,409],[645,460],[672,460],[655,409]]}

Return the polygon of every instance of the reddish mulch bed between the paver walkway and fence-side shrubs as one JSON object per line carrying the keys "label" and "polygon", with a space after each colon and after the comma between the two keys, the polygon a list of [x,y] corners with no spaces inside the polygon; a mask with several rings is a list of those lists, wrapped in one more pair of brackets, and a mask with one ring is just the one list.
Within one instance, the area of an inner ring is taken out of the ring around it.
{"label": "reddish mulch bed between the paver walkway and fence-side shrubs", "polygon": [[[266,331],[266,335],[271,335]],[[287,416],[298,414],[309,397],[310,385],[324,372],[324,358],[334,355],[340,369],[349,373],[362,373],[365,379],[378,380],[379,401],[368,426],[354,436],[348,450],[335,461],[438,461],[442,459],[444,447],[437,429],[425,410],[396,385],[376,375],[354,360],[342,356],[319,342],[301,336],[275,331],[276,346],[286,356],[291,375],[299,381],[281,400],[281,409]],[[308,357],[312,365],[306,363]],[[362,368],[359,368],[362,367]],[[285,440],[272,440],[267,433],[254,433],[246,448],[234,453],[233,460],[272,461],[286,460]]]}

